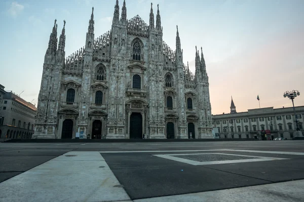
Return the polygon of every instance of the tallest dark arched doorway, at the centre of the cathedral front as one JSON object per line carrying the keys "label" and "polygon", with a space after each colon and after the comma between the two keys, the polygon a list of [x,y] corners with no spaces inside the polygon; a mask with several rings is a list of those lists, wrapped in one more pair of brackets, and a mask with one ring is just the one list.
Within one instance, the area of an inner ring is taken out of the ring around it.
{"label": "tallest dark arched doorway, at the centre of the cathedral front", "polygon": [[142,139],[142,116],[132,113],[130,117],[130,139]]}

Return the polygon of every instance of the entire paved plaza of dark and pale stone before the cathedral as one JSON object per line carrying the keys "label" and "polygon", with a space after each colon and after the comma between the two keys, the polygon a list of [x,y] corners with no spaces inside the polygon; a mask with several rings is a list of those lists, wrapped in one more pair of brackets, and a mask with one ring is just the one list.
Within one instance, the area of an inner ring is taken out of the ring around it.
{"label": "entire paved plaza of dark and pale stone before the cathedral", "polygon": [[303,201],[303,146],[0,143],[0,201]]}

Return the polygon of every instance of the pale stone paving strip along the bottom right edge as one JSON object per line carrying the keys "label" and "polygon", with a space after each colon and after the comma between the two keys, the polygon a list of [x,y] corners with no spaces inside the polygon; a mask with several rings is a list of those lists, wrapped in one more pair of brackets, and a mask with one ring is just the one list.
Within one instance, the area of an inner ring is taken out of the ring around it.
{"label": "pale stone paving strip along the bottom right edge", "polygon": [[304,180],[134,200],[134,202],[303,201]]}

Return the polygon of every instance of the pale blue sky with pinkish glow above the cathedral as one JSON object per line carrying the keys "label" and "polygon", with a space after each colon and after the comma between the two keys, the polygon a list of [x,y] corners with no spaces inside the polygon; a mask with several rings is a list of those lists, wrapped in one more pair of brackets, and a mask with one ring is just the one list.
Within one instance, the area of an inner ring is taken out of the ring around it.
{"label": "pale blue sky with pinkish glow above the cathedral", "polygon": [[[175,49],[178,25],[183,61],[195,72],[195,46],[203,47],[212,114],[260,107],[292,107],[287,90],[304,105],[304,1],[302,0],[126,0],[127,18],[149,23],[157,5],[163,40]],[[66,56],[86,40],[94,7],[95,38],[111,28],[115,0],[0,1],[0,84],[33,104],[41,85],[44,56],[57,19],[65,25]],[[119,1],[120,14],[123,1]]]}

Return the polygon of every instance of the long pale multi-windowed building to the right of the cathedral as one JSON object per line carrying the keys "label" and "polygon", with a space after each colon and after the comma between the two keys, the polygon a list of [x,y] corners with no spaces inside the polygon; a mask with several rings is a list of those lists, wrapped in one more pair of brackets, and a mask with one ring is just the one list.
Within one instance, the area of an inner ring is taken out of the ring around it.
{"label": "long pale multi-windowed building to the right of the cathedral", "polygon": [[[233,110],[234,109],[234,110]],[[298,126],[303,133],[304,106],[295,107]],[[231,113],[212,116],[214,128],[218,128],[220,138],[256,138],[264,140],[276,137],[293,138],[296,129],[293,108],[251,109],[237,113],[233,100]]]}

